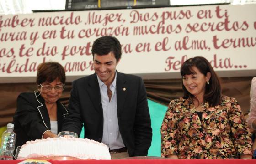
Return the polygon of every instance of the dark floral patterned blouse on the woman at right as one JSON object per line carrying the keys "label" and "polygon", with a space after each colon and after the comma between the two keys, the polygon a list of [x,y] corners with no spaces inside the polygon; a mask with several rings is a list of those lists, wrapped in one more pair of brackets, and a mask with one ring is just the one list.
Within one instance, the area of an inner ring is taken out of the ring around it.
{"label": "dark floral patterned blouse on the woman at right", "polygon": [[238,159],[252,154],[251,133],[235,98],[222,96],[221,104],[210,108],[205,103],[201,120],[192,99],[172,100],[161,126],[161,156]]}

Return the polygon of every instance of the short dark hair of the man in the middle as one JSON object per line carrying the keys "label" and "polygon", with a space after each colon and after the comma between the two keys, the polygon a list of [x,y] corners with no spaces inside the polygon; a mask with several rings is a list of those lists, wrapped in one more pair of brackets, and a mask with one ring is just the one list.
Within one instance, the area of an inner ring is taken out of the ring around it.
{"label": "short dark hair of the man in the middle", "polygon": [[94,57],[94,54],[97,55],[107,55],[109,52],[113,52],[117,62],[121,58],[122,51],[121,51],[121,44],[117,40],[117,38],[113,36],[102,36],[96,39],[91,47],[91,53]]}

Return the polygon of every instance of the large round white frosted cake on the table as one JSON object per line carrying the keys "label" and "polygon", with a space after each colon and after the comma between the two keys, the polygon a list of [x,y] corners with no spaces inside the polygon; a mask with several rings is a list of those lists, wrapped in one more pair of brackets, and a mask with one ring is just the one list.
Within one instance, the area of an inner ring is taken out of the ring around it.
{"label": "large round white frosted cake on the table", "polygon": [[91,139],[47,138],[28,141],[21,147],[19,160],[49,157],[111,159],[107,145]]}

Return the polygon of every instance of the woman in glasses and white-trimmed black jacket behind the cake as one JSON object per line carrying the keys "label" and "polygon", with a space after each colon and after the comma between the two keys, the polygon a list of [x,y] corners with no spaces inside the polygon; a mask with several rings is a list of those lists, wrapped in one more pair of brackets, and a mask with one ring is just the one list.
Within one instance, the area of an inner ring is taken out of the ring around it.
{"label": "woman in glasses and white-trimmed black jacket behind the cake", "polygon": [[54,138],[62,128],[67,108],[59,102],[65,86],[65,70],[58,62],[45,62],[37,69],[34,93],[21,93],[13,117],[16,147],[27,141]]}

